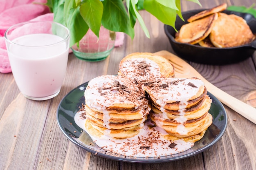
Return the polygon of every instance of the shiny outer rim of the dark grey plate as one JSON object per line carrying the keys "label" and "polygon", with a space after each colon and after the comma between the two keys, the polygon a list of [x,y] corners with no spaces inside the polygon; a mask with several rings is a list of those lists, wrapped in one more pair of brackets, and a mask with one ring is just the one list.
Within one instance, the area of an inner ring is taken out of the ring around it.
{"label": "shiny outer rim of the dark grey plate", "polygon": [[[59,108],[61,107],[61,104],[63,103],[64,99],[68,95],[70,95],[73,91],[79,89],[81,86],[85,86],[85,88],[86,88],[86,86],[88,85],[88,82],[85,82],[83,84],[80,84],[79,86],[76,86],[76,88],[72,89],[69,93],[67,93],[63,97],[63,99],[61,99],[61,102],[58,104],[58,108],[57,108],[57,111],[56,111],[56,119],[57,119],[57,123],[58,123],[59,128],[61,129],[61,131],[63,132],[65,137],[67,137],[67,139],[69,139],[76,146],[79,146],[80,148],[82,148],[82,149],[86,150],[87,152],[90,152],[94,155],[97,155],[97,156],[100,156],[100,157],[103,157],[103,158],[106,158],[106,159],[111,159],[111,160],[115,160],[115,161],[122,161],[122,162],[129,162],[129,163],[163,163],[163,162],[177,161],[177,160],[181,160],[181,159],[185,159],[185,158],[189,158],[189,157],[198,155],[199,153],[204,152],[205,150],[211,148],[211,146],[216,144],[221,139],[221,137],[224,135],[224,133],[227,129],[227,119],[228,118],[227,118],[227,113],[226,113],[226,110],[225,110],[223,104],[214,95],[212,95],[210,92],[207,92],[209,97],[211,99],[213,98],[214,101],[216,101],[216,103],[222,108],[223,117],[225,118],[224,127],[221,129],[222,131],[220,131],[220,133],[217,135],[217,137],[213,141],[211,141],[208,145],[203,146],[202,148],[200,148],[198,150],[195,150],[194,152],[185,154],[185,155],[181,155],[181,156],[178,156],[178,157],[161,158],[161,159],[146,159],[146,158],[145,159],[132,159],[132,158],[125,158],[125,157],[117,157],[117,156],[112,156],[112,155],[103,154],[101,152],[97,152],[96,150],[85,147],[84,145],[80,144],[78,141],[76,141],[75,139],[70,137],[70,135],[68,135],[67,132],[62,128],[61,122],[58,118]],[[184,151],[184,152],[186,152],[186,151]],[[182,152],[180,152],[180,153],[182,153]],[[168,156],[171,156],[171,155],[168,155]]]}

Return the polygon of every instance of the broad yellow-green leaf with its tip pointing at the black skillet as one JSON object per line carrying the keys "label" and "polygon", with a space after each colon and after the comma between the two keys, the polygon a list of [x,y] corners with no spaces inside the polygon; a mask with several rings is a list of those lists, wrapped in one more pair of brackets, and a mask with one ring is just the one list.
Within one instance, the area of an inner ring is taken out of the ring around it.
{"label": "broad yellow-green leaf with its tip pointing at the black skillet", "polygon": [[145,0],[144,8],[146,11],[154,15],[158,20],[164,24],[172,26],[175,29],[177,15],[177,11],[175,9],[168,8],[155,0]]}

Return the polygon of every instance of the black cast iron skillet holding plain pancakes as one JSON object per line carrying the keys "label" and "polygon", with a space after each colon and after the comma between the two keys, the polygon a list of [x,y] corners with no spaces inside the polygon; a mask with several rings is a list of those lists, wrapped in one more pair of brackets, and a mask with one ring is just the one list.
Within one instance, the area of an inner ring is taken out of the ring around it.
{"label": "black cast iron skillet holding plain pancakes", "polygon": [[[175,28],[180,30],[183,24],[188,23],[186,20],[203,11],[205,9],[187,11],[182,13],[185,21],[182,21],[180,17],[177,17],[175,22]],[[248,13],[239,13],[234,11],[223,11],[227,14],[235,14],[246,20],[250,29],[254,34],[256,34],[256,18]],[[211,65],[224,65],[232,64],[236,62],[243,61],[248,57],[251,57],[256,50],[256,40],[250,44],[245,44],[243,46],[229,47],[229,48],[213,48],[213,47],[202,47],[199,45],[191,45],[186,43],[179,43],[174,40],[176,31],[173,27],[169,25],[164,25],[164,31],[171,43],[173,51],[185,60],[197,62],[201,64],[211,64]]]}

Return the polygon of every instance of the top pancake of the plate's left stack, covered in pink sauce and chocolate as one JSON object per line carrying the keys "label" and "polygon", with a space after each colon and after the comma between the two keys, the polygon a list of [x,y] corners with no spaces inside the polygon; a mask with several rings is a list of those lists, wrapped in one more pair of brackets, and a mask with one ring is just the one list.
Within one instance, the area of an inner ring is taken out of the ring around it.
{"label": "top pancake of the plate's left stack, covered in pink sauce and chocolate", "polygon": [[[121,112],[148,106],[145,92],[129,79],[116,75],[102,75],[88,83],[85,89],[85,103],[91,109]],[[147,114],[146,111],[142,110]]]}

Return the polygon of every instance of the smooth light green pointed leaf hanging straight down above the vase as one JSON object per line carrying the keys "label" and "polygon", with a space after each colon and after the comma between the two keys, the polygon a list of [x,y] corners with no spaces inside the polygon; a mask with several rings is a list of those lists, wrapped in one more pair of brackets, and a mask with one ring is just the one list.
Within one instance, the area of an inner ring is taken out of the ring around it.
{"label": "smooth light green pointed leaf hanging straight down above the vase", "polygon": [[101,18],[103,14],[103,4],[99,0],[85,0],[81,3],[80,14],[83,20],[99,38]]}

